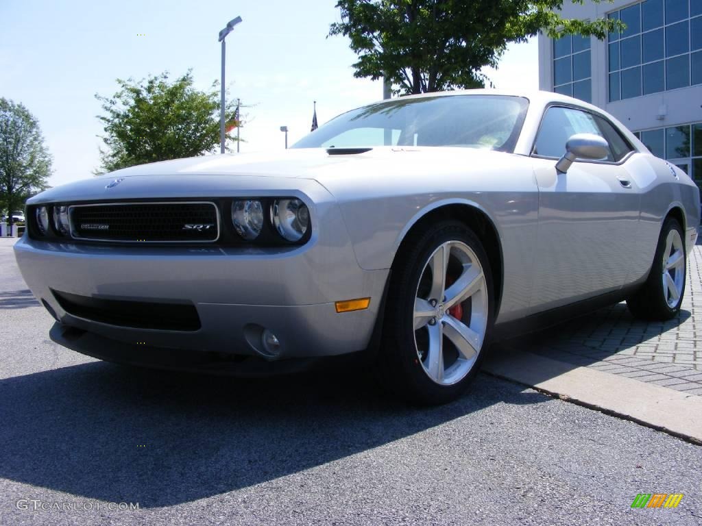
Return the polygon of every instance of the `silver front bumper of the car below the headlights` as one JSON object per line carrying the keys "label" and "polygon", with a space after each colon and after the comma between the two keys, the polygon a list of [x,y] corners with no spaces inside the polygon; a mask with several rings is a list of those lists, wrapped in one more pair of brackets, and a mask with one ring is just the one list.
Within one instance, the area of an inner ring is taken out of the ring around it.
{"label": "silver front bumper of the car below the headlights", "polygon": [[[91,356],[100,356],[107,340],[124,344],[110,349],[123,349],[131,362],[134,346],[145,361],[152,358],[150,349],[257,356],[263,355],[263,329],[280,342],[277,356],[268,359],[360,351],[369,345],[389,271],[359,267],[336,205],[318,205],[315,212],[324,229],[301,247],[86,245],[25,235],[15,244],[15,256],[29,288],[64,328],[100,337],[74,339],[70,346],[60,337],[56,341]],[[154,330],[100,323],[62,309],[52,290],[124,301],[190,302],[201,327]],[[368,309],[336,312],[334,302],[359,297],[371,298]]]}

